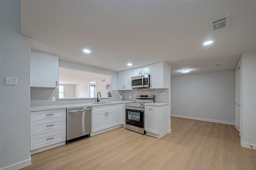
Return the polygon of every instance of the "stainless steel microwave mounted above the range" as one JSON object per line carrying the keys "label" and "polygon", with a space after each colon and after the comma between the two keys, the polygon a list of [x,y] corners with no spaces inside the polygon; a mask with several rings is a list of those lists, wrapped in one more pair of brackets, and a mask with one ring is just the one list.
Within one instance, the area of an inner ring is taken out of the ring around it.
{"label": "stainless steel microwave mounted above the range", "polygon": [[132,77],[132,88],[149,88],[150,87],[150,75],[142,75]]}

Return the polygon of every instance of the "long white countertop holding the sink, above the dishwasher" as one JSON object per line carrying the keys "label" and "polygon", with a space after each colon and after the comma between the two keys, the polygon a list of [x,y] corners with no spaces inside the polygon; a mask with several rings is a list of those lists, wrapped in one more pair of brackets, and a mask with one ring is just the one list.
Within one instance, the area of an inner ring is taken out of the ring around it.
{"label": "long white countertop holding the sink, above the dishwasher", "polygon": [[76,104],[57,104],[57,105],[44,105],[44,106],[31,106],[30,111],[43,111],[43,110],[52,110],[52,109],[67,109],[72,107],[85,107],[85,106],[99,106],[99,105],[109,105],[109,104],[122,104],[126,102],[134,102],[127,100],[113,101],[110,103],[76,103]]}

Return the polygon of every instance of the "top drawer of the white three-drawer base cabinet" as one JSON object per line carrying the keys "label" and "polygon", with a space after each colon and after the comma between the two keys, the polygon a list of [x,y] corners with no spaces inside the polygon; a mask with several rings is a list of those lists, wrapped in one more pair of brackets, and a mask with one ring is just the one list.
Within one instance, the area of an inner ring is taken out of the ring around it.
{"label": "top drawer of the white three-drawer base cabinet", "polygon": [[57,117],[66,117],[66,109],[30,112],[30,121],[52,119]]}

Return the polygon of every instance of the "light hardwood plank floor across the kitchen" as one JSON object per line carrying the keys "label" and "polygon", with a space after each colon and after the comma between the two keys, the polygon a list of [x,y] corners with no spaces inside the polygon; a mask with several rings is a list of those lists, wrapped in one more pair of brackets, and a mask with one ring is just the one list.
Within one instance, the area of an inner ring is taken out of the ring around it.
{"label": "light hardwood plank floor across the kitchen", "polygon": [[161,139],[119,128],[34,154],[22,170],[256,170],[234,125],[172,117],[171,127]]}

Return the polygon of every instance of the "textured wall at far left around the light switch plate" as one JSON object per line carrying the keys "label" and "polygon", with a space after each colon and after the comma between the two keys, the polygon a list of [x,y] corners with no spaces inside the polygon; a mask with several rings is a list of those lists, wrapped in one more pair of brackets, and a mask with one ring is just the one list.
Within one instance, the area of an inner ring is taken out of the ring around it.
{"label": "textured wall at far left around the light switch plate", "polygon": [[0,15],[0,168],[19,169],[31,164],[30,39],[20,35],[20,1],[1,0]]}

